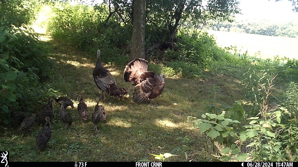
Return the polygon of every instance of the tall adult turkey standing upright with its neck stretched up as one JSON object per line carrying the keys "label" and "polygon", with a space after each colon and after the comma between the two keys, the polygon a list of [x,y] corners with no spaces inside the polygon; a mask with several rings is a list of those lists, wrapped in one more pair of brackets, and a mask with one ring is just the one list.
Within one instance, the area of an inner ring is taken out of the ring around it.
{"label": "tall adult turkey standing upright with its neck stretched up", "polygon": [[104,92],[107,92],[114,97],[122,97],[122,93],[119,90],[113,75],[111,75],[111,73],[105,67],[103,67],[99,56],[100,50],[97,50],[97,61],[93,70],[93,79],[96,86],[102,90],[100,98],[104,98],[105,100]]}

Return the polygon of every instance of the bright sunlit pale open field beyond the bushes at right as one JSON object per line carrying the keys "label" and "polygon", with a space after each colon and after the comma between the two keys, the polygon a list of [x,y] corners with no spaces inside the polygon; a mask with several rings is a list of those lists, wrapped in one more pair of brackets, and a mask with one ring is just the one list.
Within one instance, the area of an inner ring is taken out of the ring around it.
{"label": "bright sunlit pale open field beyond the bushes at right", "polygon": [[[246,34],[208,30],[221,47],[237,46],[237,53],[248,51],[250,56],[260,51],[261,58],[273,58],[276,55],[298,59],[298,38],[272,37],[266,35]],[[258,54],[257,54],[258,56]]]}

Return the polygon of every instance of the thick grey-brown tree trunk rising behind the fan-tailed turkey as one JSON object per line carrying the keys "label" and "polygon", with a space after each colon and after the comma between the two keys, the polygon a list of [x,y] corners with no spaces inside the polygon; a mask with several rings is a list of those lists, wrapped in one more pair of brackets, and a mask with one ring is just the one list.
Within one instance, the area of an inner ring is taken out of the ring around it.
{"label": "thick grey-brown tree trunk rising behind the fan-tailed turkey", "polygon": [[145,58],[145,0],[134,0],[133,31],[130,60]]}

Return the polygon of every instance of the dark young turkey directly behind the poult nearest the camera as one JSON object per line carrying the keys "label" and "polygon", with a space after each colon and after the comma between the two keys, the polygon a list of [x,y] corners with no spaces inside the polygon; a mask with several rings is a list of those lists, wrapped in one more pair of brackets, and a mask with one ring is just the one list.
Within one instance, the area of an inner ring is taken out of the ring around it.
{"label": "dark young turkey directly behind the poult nearest the camera", "polygon": [[50,122],[52,122],[52,116],[54,112],[53,101],[49,98],[48,103],[41,106],[37,115],[37,122],[41,124],[46,123],[46,117],[49,117]]}

